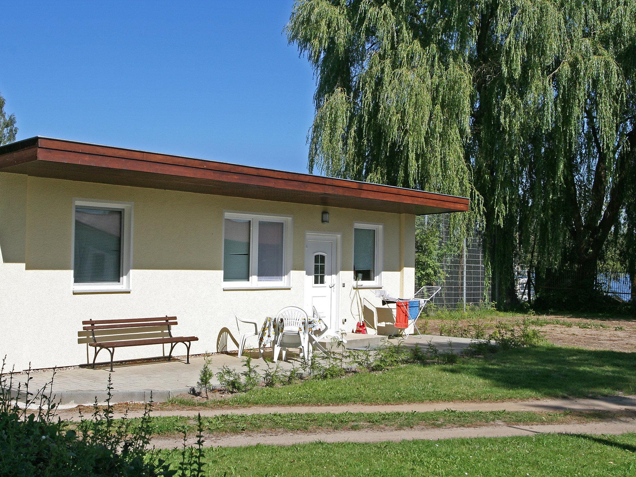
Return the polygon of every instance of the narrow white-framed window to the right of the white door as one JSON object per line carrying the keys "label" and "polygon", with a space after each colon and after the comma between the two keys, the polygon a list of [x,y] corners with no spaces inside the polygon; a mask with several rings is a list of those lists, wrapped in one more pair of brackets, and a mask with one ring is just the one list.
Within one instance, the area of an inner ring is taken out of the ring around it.
{"label": "narrow white-framed window to the right of the white door", "polygon": [[380,286],[382,226],[354,226],[354,279],[359,286]]}

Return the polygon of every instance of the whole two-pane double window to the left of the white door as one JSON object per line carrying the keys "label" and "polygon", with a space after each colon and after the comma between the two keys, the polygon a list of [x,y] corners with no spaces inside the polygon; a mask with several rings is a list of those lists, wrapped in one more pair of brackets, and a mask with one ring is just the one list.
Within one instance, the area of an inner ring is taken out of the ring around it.
{"label": "whole two-pane double window to the left of the white door", "polygon": [[223,232],[225,288],[287,287],[291,217],[227,212]]}

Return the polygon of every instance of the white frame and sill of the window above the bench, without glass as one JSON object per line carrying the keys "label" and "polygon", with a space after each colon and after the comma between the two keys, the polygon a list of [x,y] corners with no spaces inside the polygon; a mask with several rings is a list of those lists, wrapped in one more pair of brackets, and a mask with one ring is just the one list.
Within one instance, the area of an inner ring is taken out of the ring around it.
{"label": "white frame and sill of the window above the bench, without glass", "polygon": [[[123,230],[121,231],[121,273],[119,283],[75,283],[75,209],[77,207],[96,207],[98,209],[115,209],[123,214]],[[71,280],[73,293],[108,293],[130,292],[130,269],[132,268],[132,202],[113,202],[107,200],[73,199],[73,223],[71,232]]]}

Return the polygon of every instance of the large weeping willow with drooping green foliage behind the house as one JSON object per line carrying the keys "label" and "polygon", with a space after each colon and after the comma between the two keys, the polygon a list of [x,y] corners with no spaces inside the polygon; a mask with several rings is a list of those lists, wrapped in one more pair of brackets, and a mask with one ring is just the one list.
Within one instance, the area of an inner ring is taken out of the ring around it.
{"label": "large weeping willow with drooping green foliage behind the house", "polygon": [[485,219],[501,303],[522,259],[586,270],[633,180],[635,22],[636,0],[299,0],[308,167],[470,197],[452,227]]}

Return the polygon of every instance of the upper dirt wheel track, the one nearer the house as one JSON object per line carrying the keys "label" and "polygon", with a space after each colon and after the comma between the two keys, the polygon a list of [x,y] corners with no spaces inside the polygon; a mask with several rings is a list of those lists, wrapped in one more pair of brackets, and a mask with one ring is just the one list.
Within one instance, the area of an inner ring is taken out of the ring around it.
{"label": "upper dirt wheel track, the one nearer the house", "polygon": [[[177,408],[172,410],[153,410],[153,416],[193,417],[201,413],[202,417],[224,414],[288,414],[288,413],[342,413],[342,412],[425,412],[425,411],[636,411],[636,396],[605,396],[581,399],[532,399],[529,401],[502,402],[441,402],[412,404],[340,404],[333,406],[251,406],[247,408]],[[84,415],[90,411],[84,409]],[[141,417],[142,411],[135,408],[128,417]],[[123,412],[115,412],[114,417],[122,417]],[[60,417],[78,420],[77,408],[60,410]]]}

